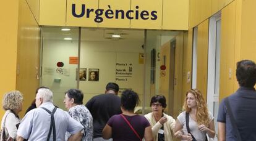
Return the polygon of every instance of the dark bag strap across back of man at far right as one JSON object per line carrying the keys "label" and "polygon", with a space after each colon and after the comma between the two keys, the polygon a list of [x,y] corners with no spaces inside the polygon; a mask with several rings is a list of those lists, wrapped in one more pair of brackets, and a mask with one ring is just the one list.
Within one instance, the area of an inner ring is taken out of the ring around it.
{"label": "dark bag strap across back of man at far right", "polygon": [[236,120],[234,119],[234,115],[233,115],[233,112],[232,112],[232,110],[231,110],[228,97],[227,97],[226,99],[224,99],[224,102],[226,103],[226,108],[227,108],[227,111],[228,111],[228,115],[229,115],[231,124],[232,124],[232,126],[233,126],[234,136],[237,137],[237,140],[238,140],[238,141],[241,141],[242,139],[241,139],[240,133],[239,133],[239,131],[238,131],[237,124],[236,124]]}

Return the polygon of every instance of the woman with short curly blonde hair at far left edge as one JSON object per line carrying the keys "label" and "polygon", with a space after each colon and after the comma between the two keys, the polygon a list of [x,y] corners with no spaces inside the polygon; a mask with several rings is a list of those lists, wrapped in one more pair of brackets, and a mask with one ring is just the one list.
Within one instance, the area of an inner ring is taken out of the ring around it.
{"label": "woman with short curly blonde hair at far left edge", "polygon": [[2,117],[1,135],[4,131],[6,140],[16,139],[20,124],[19,112],[22,110],[23,97],[19,91],[7,92],[2,100],[2,108],[6,113]]}

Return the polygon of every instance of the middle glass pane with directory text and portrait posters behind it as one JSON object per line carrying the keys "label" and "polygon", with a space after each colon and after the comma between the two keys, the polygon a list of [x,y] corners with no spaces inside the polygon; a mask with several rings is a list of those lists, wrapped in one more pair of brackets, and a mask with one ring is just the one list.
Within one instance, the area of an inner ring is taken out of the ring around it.
{"label": "middle glass pane with directory text and portrait posters behind it", "polygon": [[143,42],[144,30],[82,28],[80,69],[87,77],[79,82],[79,88],[84,103],[104,94],[109,82],[119,85],[119,95],[132,89],[143,102]]}

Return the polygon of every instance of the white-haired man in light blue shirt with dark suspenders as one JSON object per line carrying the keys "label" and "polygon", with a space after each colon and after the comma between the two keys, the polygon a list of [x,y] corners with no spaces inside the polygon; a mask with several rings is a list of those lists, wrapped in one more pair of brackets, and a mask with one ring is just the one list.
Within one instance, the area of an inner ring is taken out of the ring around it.
{"label": "white-haired man in light blue shirt with dark suspenders", "polygon": [[22,119],[17,131],[17,140],[81,140],[83,126],[71,118],[66,111],[53,105],[53,92],[41,88],[36,94],[36,107]]}

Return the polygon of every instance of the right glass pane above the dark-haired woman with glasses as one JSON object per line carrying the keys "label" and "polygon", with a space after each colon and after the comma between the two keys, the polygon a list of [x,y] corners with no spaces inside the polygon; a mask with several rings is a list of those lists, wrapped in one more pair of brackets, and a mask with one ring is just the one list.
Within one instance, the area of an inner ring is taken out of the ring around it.
{"label": "right glass pane above the dark-haired woman with glasses", "polygon": [[[177,45],[177,36],[182,34],[182,45]],[[183,47],[183,31],[147,30],[145,41],[145,110],[151,112],[151,97],[157,94],[166,97],[168,107],[164,112],[173,116],[175,50]]]}

